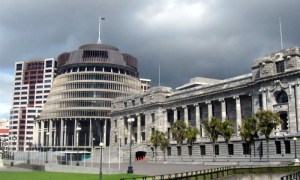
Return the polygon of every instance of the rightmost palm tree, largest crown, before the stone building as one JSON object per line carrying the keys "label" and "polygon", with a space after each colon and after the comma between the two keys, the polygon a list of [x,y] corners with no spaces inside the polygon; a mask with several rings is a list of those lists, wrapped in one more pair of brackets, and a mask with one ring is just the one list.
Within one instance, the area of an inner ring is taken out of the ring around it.
{"label": "rightmost palm tree, largest crown, before the stone building", "polygon": [[258,119],[258,130],[264,134],[267,141],[267,161],[269,161],[269,139],[271,132],[281,124],[281,119],[277,113],[270,110],[263,110],[255,113],[255,117]]}

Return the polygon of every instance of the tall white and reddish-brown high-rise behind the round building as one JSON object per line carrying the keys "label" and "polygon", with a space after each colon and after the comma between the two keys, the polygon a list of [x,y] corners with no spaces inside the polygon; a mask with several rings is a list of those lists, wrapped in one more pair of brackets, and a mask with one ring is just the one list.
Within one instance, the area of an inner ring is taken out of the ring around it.
{"label": "tall white and reddish-brown high-rise behind the round building", "polygon": [[9,140],[12,150],[28,151],[33,144],[34,120],[42,112],[57,62],[54,58],[15,63],[13,105],[10,111]]}

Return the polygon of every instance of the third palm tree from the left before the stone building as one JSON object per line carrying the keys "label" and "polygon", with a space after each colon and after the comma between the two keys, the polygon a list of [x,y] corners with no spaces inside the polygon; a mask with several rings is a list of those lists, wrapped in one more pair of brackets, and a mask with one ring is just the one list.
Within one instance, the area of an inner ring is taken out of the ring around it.
{"label": "third palm tree from the left before the stone building", "polygon": [[[177,120],[171,127],[173,139],[177,142],[177,146],[182,148],[183,141],[186,139],[187,126],[184,121]],[[182,160],[182,155],[181,160]]]}

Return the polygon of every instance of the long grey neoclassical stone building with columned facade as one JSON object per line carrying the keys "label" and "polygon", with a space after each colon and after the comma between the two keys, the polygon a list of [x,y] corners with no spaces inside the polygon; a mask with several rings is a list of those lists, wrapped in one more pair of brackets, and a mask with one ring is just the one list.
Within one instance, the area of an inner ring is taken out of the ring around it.
{"label": "long grey neoclassical stone building with columned facade", "polygon": [[[228,146],[219,138],[215,154],[217,160],[224,160],[227,150],[231,159],[245,159],[249,157],[249,146],[241,141],[239,125],[246,116],[252,116],[259,110],[272,110],[279,113],[282,124],[272,133],[270,158],[293,159],[292,138],[300,135],[299,83],[300,48],[296,47],[254,60],[249,74],[225,80],[198,77],[175,90],[154,87],[144,94],[120,98],[112,106],[111,144],[117,145],[119,141],[121,145],[129,143],[128,118],[134,118],[133,152],[137,156],[138,152],[144,152],[149,158],[153,157],[149,140],[151,133],[159,130],[167,133],[172,144],[167,158],[176,160],[181,154],[183,159],[192,157],[193,160],[210,161],[212,147],[204,132],[203,121],[215,116],[232,120],[234,128],[234,136]],[[183,146],[179,149],[172,139],[170,129],[177,119],[199,129],[200,135],[192,148]],[[266,157],[265,143],[264,136],[260,134],[252,150],[254,159]],[[126,148],[123,149],[126,151]]]}

